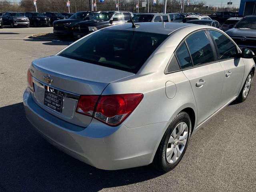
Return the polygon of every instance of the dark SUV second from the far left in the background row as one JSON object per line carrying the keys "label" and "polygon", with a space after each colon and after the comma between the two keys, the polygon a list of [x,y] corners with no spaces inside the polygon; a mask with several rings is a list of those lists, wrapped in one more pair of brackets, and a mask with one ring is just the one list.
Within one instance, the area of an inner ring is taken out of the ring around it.
{"label": "dark SUV second from the far left in the background row", "polygon": [[29,19],[30,25],[37,26],[50,26],[50,18],[38,12],[26,12],[25,16]]}

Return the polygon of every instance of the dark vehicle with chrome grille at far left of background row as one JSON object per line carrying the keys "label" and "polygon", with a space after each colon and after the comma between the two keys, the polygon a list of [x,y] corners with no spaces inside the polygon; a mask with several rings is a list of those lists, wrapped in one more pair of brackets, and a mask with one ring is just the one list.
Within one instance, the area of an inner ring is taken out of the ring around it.
{"label": "dark vehicle with chrome grille at far left of background row", "polygon": [[17,12],[4,12],[2,16],[3,25],[29,27],[29,19]]}

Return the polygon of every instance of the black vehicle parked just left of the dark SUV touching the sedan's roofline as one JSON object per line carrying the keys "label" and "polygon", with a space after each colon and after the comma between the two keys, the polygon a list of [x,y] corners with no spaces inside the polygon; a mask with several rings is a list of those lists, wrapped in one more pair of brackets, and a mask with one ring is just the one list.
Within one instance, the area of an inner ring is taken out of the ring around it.
{"label": "black vehicle parked just left of the dark SUV touching the sedan's roofline", "polygon": [[69,19],[57,20],[53,22],[53,33],[58,36],[73,37],[73,26],[84,20],[91,20],[98,12],[81,11],[72,15]]}

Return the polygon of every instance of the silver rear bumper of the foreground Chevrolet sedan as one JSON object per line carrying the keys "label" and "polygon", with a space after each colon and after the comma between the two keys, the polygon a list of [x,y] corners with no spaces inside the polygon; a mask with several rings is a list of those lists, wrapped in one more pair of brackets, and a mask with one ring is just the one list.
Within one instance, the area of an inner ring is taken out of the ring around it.
{"label": "silver rear bumper of the foreground Chevrolet sedan", "polygon": [[110,127],[93,119],[87,128],[49,114],[24,92],[26,117],[52,145],[96,168],[118,170],[152,162],[167,122],[138,128]]}

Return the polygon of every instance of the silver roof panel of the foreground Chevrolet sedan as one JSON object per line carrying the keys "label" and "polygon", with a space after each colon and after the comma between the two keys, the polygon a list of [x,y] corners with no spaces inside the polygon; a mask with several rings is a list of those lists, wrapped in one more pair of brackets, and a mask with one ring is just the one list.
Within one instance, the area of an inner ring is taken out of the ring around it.
{"label": "silver roof panel of the foreground Chevrolet sedan", "polygon": [[139,25],[137,28],[132,28],[132,23],[122,24],[111,26],[110,28],[104,28],[103,30],[132,30],[139,32],[148,32],[148,33],[158,33],[168,35],[175,30],[195,26],[195,24],[187,23],[174,23],[174,22],[138,22],[136,25]]}

